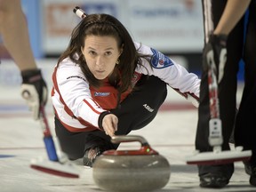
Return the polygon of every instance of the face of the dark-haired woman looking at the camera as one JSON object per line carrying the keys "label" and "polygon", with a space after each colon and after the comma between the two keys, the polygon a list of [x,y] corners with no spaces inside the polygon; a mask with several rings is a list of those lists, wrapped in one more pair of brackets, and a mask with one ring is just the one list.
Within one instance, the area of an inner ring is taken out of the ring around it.
{"label": "face of the dark-haired woman looking at the camera", "polygon": [[113,36],[86,36],[81,49],[88,68],[99,80],[111,75],[122,52]]}

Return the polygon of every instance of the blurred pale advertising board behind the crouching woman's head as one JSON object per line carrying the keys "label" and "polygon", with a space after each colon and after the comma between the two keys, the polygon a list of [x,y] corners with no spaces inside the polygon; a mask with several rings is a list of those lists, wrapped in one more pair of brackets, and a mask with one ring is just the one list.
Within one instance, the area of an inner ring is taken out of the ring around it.
{"label": "blurred pale advertising board behind the crouching woman's head", "polygon": [[159,51],[201,52],[203,15],[200,0],[43,0],[42,47],[45,54],[59,54],[68,46],[80,19],[80,6],[88,14],[108,13],[120,20],[135,41]]}

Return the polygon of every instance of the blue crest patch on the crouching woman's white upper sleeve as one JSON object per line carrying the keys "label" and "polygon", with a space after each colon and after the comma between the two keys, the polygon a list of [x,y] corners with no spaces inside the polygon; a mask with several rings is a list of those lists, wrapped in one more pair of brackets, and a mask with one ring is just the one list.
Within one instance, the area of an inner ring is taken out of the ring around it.
{"label": "blue crest patch on the crouching woman's white upper sleeve", "polygon": [[151,52],[153,52],[151,59],[153,68],[168,68],[173,65],[172,60],[166,57],[162,52],[157,52],[153,48],[151,48]]}

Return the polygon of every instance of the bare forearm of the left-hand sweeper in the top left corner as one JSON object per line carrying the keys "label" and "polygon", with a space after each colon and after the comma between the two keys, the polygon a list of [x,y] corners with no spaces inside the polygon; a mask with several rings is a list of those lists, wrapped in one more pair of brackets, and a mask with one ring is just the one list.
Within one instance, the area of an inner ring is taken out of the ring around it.
{"label": "bare forearm of the left-hand sweeper in the top left corner", "polygon": [[0,35],[20,71],[37,68],[20,0],[0,0]]}

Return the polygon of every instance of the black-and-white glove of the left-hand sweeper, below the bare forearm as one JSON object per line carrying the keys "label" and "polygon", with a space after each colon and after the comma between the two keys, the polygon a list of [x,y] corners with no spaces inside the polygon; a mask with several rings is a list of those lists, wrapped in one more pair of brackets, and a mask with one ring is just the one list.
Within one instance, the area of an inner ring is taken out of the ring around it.
{"label": "black-and-white glove of the left-hand sweeper, below the bare forearm", "polygon": [[48,90],[40,69],[21,71],[21,96],[27,100],[28,108],[35,120],[39,118],[40,106],[47,102]]}

